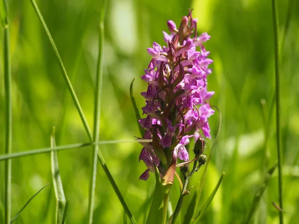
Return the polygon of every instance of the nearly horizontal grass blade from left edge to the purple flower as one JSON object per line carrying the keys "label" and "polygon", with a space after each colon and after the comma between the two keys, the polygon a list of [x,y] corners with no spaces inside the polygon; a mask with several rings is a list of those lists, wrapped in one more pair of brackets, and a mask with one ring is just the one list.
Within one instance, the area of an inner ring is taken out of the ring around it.
{"label": "nearly horizontal grass blade from left edge to the purple flower", "polygon": [[136,140],[110,140],[110,141],[77,143],[77,144],[57,146],[57,147],[53,147],[53,148],[49,147],[49,148],[34,149],[34,150],[29,150],[29,151],[24,151],[24,152],[15,152],[15,153],[10,153],[10,154],[6,154],[6,155],[4,154],[4,155],[0,155],[0,161],[23,157],[23,156],[28,156],[28,155],[47,153],[47,152],[51,152],[51,151],[82,148],[82,147],[87,147],[87,146],[92,146],[92,145],[117,144],[117,143],[127,143],[127,142],[151,142],[151,141],[149,139],[136,139]]}

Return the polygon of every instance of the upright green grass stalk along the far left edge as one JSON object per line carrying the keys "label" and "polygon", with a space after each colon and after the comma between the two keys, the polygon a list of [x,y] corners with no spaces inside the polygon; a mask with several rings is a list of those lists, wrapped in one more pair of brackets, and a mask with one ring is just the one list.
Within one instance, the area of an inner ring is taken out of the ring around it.
{"label": "upright green grass stalk along the far left edge", "polygon": [[[3,0],[4,18],[2,21],[4,41],[4,88],[5,88],[5,153],[11,153],[12,136],[12,101],[11,101],[11,63],[9,49],[9,22],[8,22],[8,2]],[[11,216],[11,160],[5,161],[5,192],[4,192],[4,223],[10,223]]]}

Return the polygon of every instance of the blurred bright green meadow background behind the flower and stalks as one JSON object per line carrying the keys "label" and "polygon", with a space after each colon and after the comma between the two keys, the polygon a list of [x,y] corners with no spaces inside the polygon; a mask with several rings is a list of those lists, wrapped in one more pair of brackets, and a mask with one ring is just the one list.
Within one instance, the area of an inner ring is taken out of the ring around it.
{"label": "blurred bright green meadow background behind the flower and stalks", "polygon": [[[94,83],[98,49],[101,1],[37,0],[92,126]],[[52,126],[57,145],[88,142],[81,119],[67,91],[49,40],[29,0],[9,0],[13,94],[13,152],[49,147]],[[100,139],[133,139],[139,136],[130,101],[130,83],[141,108],[140,92],[147,89],[140,76],[151,59],[147,48],[153,41],[164,45],[162,30],[172,19],[179,25],[188,8],[194,8],[198,32],[208,32],[205,44],[211,52],[213,73],[211,105],[222,113],[222,127],[201,203],[209,196],[221,173],[224,176],[202,223],[238,224],[248,212],[267,168],[276,161],[274,38],[271,0],[109,0],[105,20],[105,67]],[[284,215],[286,223],[299,220],[299,2],[288,13],[289,0],[278,0],[281,43],[281,126],[284,172]],[[286,21],[290,15],[289,25]],[[3,31],[0,31],[3,42]],[[1,52],[3,44],[0,45]],[[2,54],[1,54],[2,59]],[[3,60],[0,70],[0,154],[4,153]],[[264,110],[261,100],[266,103]],[[217,113],[210,118],[214,142]],[[191,145],[192,146],[192,145]],[[145,223],[154,178],[139,180],[145,170],[139,163],[140,144],[124,143],[100,147],[107,165],[138,223]],[[66,222],[87,221],[91,176],[91,147],[58,153],[60,172],[69,202]],[[121,223],[124,210],[101,166],[98,166],[94,223]],[[192,191],[201,172],[193,176]],[[3,218],[4,163],[0,162],[0,220]],[[50,154],[12,160],[12,216],[43,185],[50,183],[15,220],[16,224],[55,221],[55,195],[50,171]],[[277,171],[275,171],[252,223],[278,223]],[[171,188],[175,207],[177,183]],[[191,196],[177,223],[182,223]]]}

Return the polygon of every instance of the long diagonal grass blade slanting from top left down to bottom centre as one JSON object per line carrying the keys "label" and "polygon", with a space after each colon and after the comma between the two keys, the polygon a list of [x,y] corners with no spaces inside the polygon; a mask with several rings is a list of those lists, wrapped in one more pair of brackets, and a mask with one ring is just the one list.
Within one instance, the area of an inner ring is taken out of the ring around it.
{"label": "long diagonal grass blade slanting from top left down to bottom centre", "polygon": [[[89,124],[88,124],[88,122],[86,120],[86,117],[85,117],[85,115],[83,113],[83,110],[82,110],[82,108],[80,106],[78,98],[77,98],[77,96],[75,94],[75,91],[74,91],[74,89],[72,87],[72,84],[71,84],[71,82],[69,80],[69,77],[68,77],[67,72],[66,72],[66,70],[64,68],[64,65],[63,65],[62,60],[60,58],[58,49],[57,49],[57,47],[56,47],[56,45],[54,43],[54,40],[53,40],[53,38],[51,36],[51,33],[50,33],[50,31],[49,31],[49,29],[48,29],[48,27],[47,27],[47,25],[46,25],[46,23],[45,23],[42,15],[41,15],[41,13],[40,13],[40,10],[39,10],[39,8],[38,8],[35,0],[30,0],[30,1],[31,1],[31,4],[32,4],[32,6],[33,6],[33,8],[34,8],[34,10],[35,10],[35,12],[36,12],[36,14],[37,14],[40,22],[42,23],[43,28],[45,29],[45,31],[47,33],[49,41],[50,41],[50,43],[52,45],[52,48],[53,48],[53,50],[55,52],[58,64],[59,64],[59,66],[61,68],[63,78],[64,78],[64,80],[66,82],[66,85],[67,85],[69,91],[70,91],[70,94],[71,94],[72,99],[74,101],[74,104],[75,104],[75,106],[77,108],[77,111],[79,112],[79,115],[80,115],[81,120],[82,120],[82,122],[84,124],[85,130],[86,130],[86,132],[87,132],[87,134],[89,136],[89,139],[91,141],[93,141],[93,135],[92,135],[91,129],[90,129]],[[124,198],[123,198],[123,196],[122,196],[119,188],[117,187],[117,185],[116,185],[116,183],[115,183],[115,181],[114,181],[114,179],[113,179],[113,177],[112,177],[112,175],[111,175],[111,173],[110,173],[110,171],[109,171],[109,169],[108,169],[108,167],[106,165],[106,162],[104,160],[104,157],[103,157],[103,155],[102,155],[99,147],[97,147],[97,153],[98,153],[98,160],[99,160],[100,164],[102,165],[102,168],[104,169],[104,172],[107,175],[107,177],[108,177],[108,179],[109,179],[109,181],[110,181],[110,183],[111,183],[111,185],[112,185],[115,193],[117,194],[117,196],[118,196],[118,198],[119,198],[122,206],[124,207],[126,213],[128,214],[129,219],[131,220],[132,223],[136,223],[135,218],[133,217],[132,213],[130,212],[130,210],[129,210],[129,208],[128,208],[128,206],[127,206],[127,204],[126,204],[126,202],[125,202],[125,200],[124,200]]]}

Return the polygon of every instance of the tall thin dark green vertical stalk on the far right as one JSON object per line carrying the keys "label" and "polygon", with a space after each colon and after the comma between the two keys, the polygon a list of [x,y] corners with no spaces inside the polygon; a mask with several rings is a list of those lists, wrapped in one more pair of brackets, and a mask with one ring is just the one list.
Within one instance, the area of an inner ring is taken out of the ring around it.
{"label": "tall thin dark green vertical stalk on the far right", "polygon": [[283,174],[282,174],[282,152],[281,152],[281,129],[280,129],[280,59],[279,59],[279,42],[278,42],[278,21],[276,0],[272,0],[272,18],[274,28],[274,50],[275,50],[275,86],[276,86],[276,139],[277,139],[277,160],[278,160],[278,192],[279,192],[279,221],[284,223],[283,216]]}

